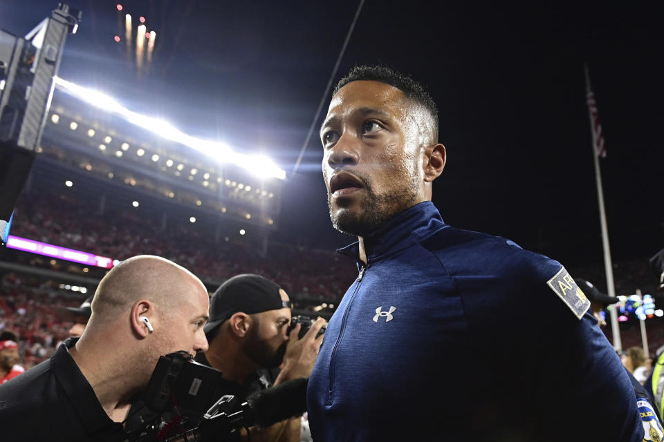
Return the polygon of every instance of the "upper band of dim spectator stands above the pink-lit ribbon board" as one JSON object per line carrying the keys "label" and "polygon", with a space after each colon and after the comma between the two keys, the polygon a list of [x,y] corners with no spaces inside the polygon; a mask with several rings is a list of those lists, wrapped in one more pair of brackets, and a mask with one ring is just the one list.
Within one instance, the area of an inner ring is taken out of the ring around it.
{"label": "upper band of dim spectator stands above the pink-lit ribbon board", "polygon": [[334,251],[271,243],[261,257],[254,249],[259,246],[249,240],[249,245],[215,240],[203,229],[171,223],[160,230],[159,225],[158,218],[138,211],[113,211],[111,220],[73,198],[42,194],[19,202],[12,234],[118,260],[143,253],[163,256],[208,281],[258,273],[294,298],[338,301],[357,276],[354,263]]}

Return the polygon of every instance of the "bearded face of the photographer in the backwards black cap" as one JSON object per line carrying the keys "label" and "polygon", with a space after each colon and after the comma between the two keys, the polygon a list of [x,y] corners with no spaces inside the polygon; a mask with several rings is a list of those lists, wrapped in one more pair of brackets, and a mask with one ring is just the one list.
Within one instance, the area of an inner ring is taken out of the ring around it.
{"label": "bearded face of the photographer in the backwards black cap", "polygon": [[[279,294],[282,300],[288,300],[286,291],[279,289]],[[263,311],[253,314],[252,318],[252,327],[243,345],[245,354],[260,367],[279,367],[286,352],[291,309]]]}

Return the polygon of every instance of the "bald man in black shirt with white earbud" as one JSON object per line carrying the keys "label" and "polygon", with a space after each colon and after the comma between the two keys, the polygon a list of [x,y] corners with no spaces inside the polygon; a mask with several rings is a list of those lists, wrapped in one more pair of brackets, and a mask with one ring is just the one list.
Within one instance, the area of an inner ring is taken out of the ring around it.
{"label": "bald man in black shirt with white earbud", "polygon": [[109,271],[80,338],[0,387],[8,441],[122,441],[123,421],[159,356],[208,349],[208,291],[199,278],[158,256]]}

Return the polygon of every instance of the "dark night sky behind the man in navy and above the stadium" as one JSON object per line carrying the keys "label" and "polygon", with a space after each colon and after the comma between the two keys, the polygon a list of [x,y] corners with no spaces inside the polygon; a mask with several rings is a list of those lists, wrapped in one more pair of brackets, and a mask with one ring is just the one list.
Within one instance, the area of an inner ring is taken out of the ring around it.
{"label": "dark night sky behind the man in navy and above the stadium", "polygon": [[[83,10],[60,77],[104,90],[192,135],[264,152],[291,171],[357,1],[71,1]],[[602,262],[585,104],[590,68],[607,157],[601,161],[614,259],[664,247],[663,6],[575,2],[368,0],[335,81],[354,64],[410,73],[440,108],[448,164],[434,185],[443,219],[506,236],[565,263]],[[578,3],[583,3],[582,5]],[[25,34],[55,1],[2,0],[0,26]],[[124,12],[156,30],[137,70]],[[329,102],[326,97],[324,111]],[[332,248],[315,135],[282,197],[276,240]]]}

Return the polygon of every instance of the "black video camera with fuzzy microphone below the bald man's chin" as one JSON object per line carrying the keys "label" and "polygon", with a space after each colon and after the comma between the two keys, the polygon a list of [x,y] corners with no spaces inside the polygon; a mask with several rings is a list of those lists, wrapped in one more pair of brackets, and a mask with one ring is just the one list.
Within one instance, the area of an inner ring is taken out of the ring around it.
{"label": "black video camera with fuzzy microphone below the bald man's chin", "polygon": [[248,396],[239,403],[239,385],[197,363],[187,352],[161,356],[145,393],[147,419],[129,429],[129,440],[233,441],[239,429],[268,427],[306,411],[306,378]]}

